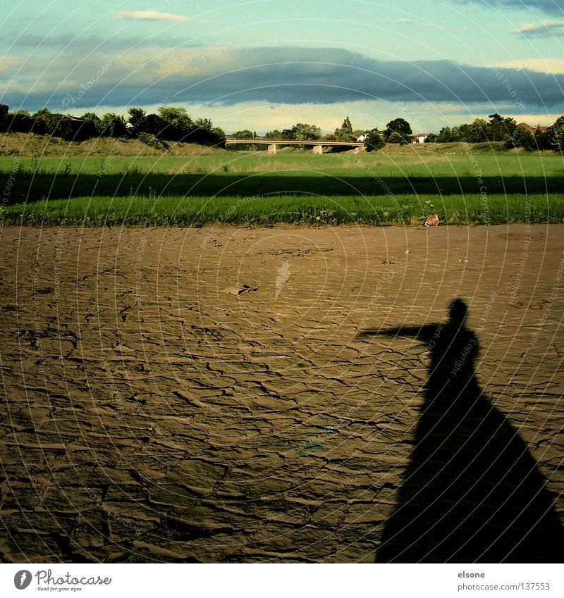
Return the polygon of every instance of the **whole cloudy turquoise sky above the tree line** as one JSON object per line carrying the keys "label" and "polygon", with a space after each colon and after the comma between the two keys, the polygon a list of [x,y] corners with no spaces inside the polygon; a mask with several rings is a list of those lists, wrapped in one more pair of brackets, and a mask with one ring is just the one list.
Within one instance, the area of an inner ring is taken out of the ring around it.
{"label": "whole cloudy turquoise sky above the tree line", "polygon": [[1,0],[0,103],[227,133],[564,114],[564,0]]}

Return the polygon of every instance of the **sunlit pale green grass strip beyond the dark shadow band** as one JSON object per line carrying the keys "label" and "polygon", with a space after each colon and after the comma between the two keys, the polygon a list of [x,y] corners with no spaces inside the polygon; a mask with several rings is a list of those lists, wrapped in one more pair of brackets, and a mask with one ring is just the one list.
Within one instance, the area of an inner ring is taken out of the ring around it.
{"label": "sunlit pale green grass strip beyond the dark shadow band", "polygon": [[[455,144],[451,144],[455,145]],[[307,151],[290,151],[269,156],[264,151],[247,153],[223,151],[214,155],[194,156],[42,156],[20,158],[20,170],[37,171],[42,175],[252,175],[307,173],[350,176],[372,174],[381,177],[563,177],[564,157],[538,152],[502,153],[472,151],[460,153],[410,154],[378,151],[371,154],[342,152],[314,156]],[[472,146],[469,146],[472,149]],[[0,156],[0,171],[7,173],[16,161],[15,156]],[[372,170],[371,170],[372,169]],[[369,173],[369,170],[371,172]]]}

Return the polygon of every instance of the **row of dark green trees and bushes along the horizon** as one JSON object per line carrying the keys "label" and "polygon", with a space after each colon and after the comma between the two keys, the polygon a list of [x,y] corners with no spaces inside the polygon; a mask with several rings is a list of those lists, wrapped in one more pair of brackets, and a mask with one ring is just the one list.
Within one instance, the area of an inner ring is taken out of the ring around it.
{"label": "row of dark green trees and bushes along the horizon", "polygon": [[[523,147],[526,150],[548,149],[564,153],[564,116],[560,116],[550,127],[537,127],[531,132],[518,127],[515,119],[490,114],[489,120],[476,118],[472,123],[456,127],[443,127],[438,134],[431,133],[426,143],[450,142],[504,142],[505,147]],[[188,142],[200,144],[223,144],[226,135],[220,127],[214,127],[209,118],[192,119],[185,108],[159,106],[157,113],[147,113],[143,108],[129,108],[128,119],[115,113],[99,117],[87,112],[80,117],[54,113],[47,108],[30,114],[25,110],[10,112],[8,106],[0,104],[0,130],[7,132],[35,132],[39,135],[53,135],[68,141],[83,141],[93,137],[114,137],[129,139],[137,137],[158,149],[168,149],[166,142]],[[356,141],[364,136],[368,151],[384,147],[386,143],[407,144],[411,142],[412,129],[404,118],[394,118],[384,130],[374,127],[369,130],[353,129],[347,116],[333,133],[321,135],[321,128],[308,123],[297,123],[287,129],[274,129],[264,139],[320,139],[323,141]],[[250,139],[257,137],[255,131],[239,130],[230,137]],[[237,149],[259,149],[257,144],[241,144]],[[346,147],[334,147],[333,151],[346,151]]]}

